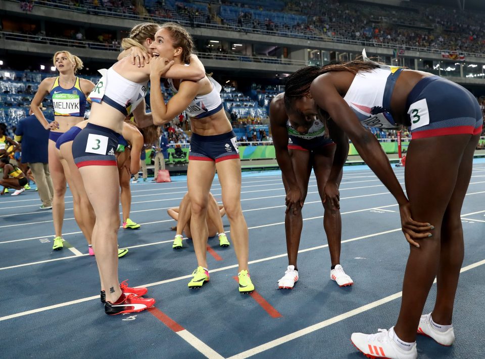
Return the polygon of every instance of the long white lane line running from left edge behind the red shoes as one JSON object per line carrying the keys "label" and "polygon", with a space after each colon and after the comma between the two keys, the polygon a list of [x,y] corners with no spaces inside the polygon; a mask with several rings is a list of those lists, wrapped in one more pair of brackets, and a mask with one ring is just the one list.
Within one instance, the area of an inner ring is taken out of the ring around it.
{"label": "long white lane line running from left edge behind the red shoes", "polygon": [[[367,236],[351,238],[351,239],[347,239],[345,241],[342,241],[342,243],[353,242],[353,241],[357,241],[357,240],[360,240],[360,239],[371,238],[371,237],[374,237],[374,236],[379,236],[379,235],[388,234],[388,233],[397,232],[397,231],[401,231],[401,229],[398,228],[398,229],[391,230],[391,231],[379,232],[379,233],[374,233],[374,234],[370,234],[370,235],[367,235]],[[302,250],[299,250],[298,253],[309,252],[309,251],[312,251],[312,250],[325,248],[327,246],[328,246],[328,244],[317,246],[317,247],[312,247],[312,248],[307,248],[307,249],[302,249]],[[86,255],[87,254],[83,254],[83,256],[86,256]],[[248,262],[248,264],[260,263],[260,262],[264,262],[264,261],[268,261],[268,260],[272,260],[272,259],[276,259],[276,258],[285,257],[286,255],[287,255],[286,253],[283,253],[283,254],[278,254],[278,255],[271,256],[271,257],[251,260],[251,261]],[[74,258],[74,257],[75,256],[72,256],[71,258]],[[63,259],[63,258],[50,259],[50,260],[45,260],[45,261],[36,262],[36,263],[45,263],[45,262],[54,261],[54,260],[61,260],[61,259]],[[21,264],[21,266],[22,265],[24,265],[24,264]],[[0,270],[7,269],[7,268],[0,268]],[[221,272],[221,271],[226,271],[226,270],[229,270],[229,269],[232,269],[232,268],[237,268],[237,264],[228,265],[228,266],[225,266],[225,267],[222,267],[222,268],[216,268],[214,270],[211,270],[210,272],[211,273]],[[180,280],[191,278],[191,277],[192,277],[192,275],[189,274],[189,275],[186,275],[186,276],[170,278],[170,279],[166,279],[166,280],[159,281],[159,282],[141,285],[139,287],[154,287],[154,286],[157,286],[157,285],[176,282],[176,281],[180,281]],[[59,308],[59,307],[67,306],[67,305],[81,303],[81,302],[91,300],[91,299],[99,299],[99,296],[92,296],[92,297],[82,298],[82,299],[78,299],[78,300],[72,300],[72,301],[69,301],[69,302],[59,303],[59,304],[55,304],[55,305],[49,305],[49,306],[38,308],[38,309],[32,309],[32,310],[23,311],[23,312],[20,312],[20,313],[15,313],[15,314],[12,314],[12,315],[9,315],[9,316],[0,317],[0,322],[8,320],[8,319],[12,319],[12,318],[27,316],[27,315],[30,315],[32,313],[37,313],[37,312],[44,311],[44,310],[50,310],[50,309],[55,309],[55,308]]]}

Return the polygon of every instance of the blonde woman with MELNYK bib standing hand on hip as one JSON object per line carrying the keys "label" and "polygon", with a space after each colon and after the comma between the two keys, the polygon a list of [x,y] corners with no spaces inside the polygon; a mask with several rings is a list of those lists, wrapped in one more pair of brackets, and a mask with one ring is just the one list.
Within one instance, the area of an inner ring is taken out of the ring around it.
{"label": "blonde woman with MELNYK bib standing hand on hip", "polygon": [[[54,220],[54,250],[63,248],[62,223],[64,220],[64,194],[69,170],[63,168],[56,149],[57,139],[72,126],[84,120],[86,97],[94,88],[94,83],[79,78],[75,74],[82,69],[81,59],[69,51],[58,51],[53,57],[54,66],[59,71],[57,77],[47,77],[40,82],[30,109],[49,134],[49,169],[54,184],[52,217]],[[47,122],[39,106],[47,95],[52,96],[55,120]],[[74,213],[81,213],[78,203],[74,203]],[[82,230],[82,229],[81,229]],[[84,232],[84,231],[83,231]]]}

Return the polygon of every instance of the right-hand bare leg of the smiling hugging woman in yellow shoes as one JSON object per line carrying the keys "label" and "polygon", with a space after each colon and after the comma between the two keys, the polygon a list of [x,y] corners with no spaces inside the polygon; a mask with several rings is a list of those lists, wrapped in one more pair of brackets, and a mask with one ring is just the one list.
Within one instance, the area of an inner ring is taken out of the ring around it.
{"label": "right-hand bare leg of the smiling hugging woman in yellow shoes", "polygon": [[231,225],[231,239],[239,265],[238,272],[248,270],[249,233],[241,208],[241,162],[239,159],[216,163],[222,187],[222,203]]}

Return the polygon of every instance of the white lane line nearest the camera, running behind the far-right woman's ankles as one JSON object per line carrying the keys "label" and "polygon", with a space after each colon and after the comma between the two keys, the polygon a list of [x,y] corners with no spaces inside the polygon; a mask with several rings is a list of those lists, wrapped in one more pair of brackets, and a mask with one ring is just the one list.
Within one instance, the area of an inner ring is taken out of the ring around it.
{"label": "white lane line nearest the camera, running behind the far-right woman's ankles", "polygon": [[[469,271],[469,270],[471,270],[473,268],[476,268],[476,267],[478,267],[480,265],[483,265],[483,264],[485,264],[485,260],[480,260],[480,261],[478,261],[476,263],[467,265],[467,266],[461,268],[460,273]],[[434,283],[436,283],[436,280],[434,280],[433,284]],[[298,331],[296,331],[294,333],[291,333],[291,334],[282,336],[280,338],[277,338],[277,339],[274,339],[274,340],[269,341],[267,343],[261,344],[261,345],[259,345],[257,347],[252,348],[252,349],[249,349],[249,350],[243,351],[243,352],[241,352],[239,354],[230,356],[228,359],[243,359],[243,358],[247,358],[247,357],[250,357],[250,356],[259,354],[259,353],[261,353],[263,351],[266,351],[268,349],[274,348],[274,347],[276,347],[278,345],[281,345],[283,343],[287,343],[287,342],[289,342],[291,340],[294,340],[294,339],[303,337],[304,335],[313,333],[313,332],[315,332],[317,330],[320,330],[322,328],[328,327],[329,325],[332,325],[332,324],[341,322],[341,321],[343,321],[345,319],[348,319],[348,318],[354,317],[354,316],[356,316],[356,315],[358,315],[360,313],[363,313],[364,311],[373,309],[375,307],[378,307],[380,305],[383,305],[385,303],[388,303],[390,301],[393,301],[395,299],[398,299],[398,298],[402,297],[402,295],[403,295],[403,292],[398,292],[398,293],[392,294],[392,295],[387,296],[387,297],[384,297],[382,299],[373,301],[373,302],[371,302],[369,304],[366,304],[366,305],[360,306],[358,308],[355,308],[353,310],[350,310],[350,311],[347,311],[345,313],[342,313],[341,315],[338,315],[338,316],[335,316],[333,318],[324,320],[324,321],[322,321],[320,323],[317,323],[317,324],[311,325],[309,327],[300,329],[300,330],[298,330]]]}

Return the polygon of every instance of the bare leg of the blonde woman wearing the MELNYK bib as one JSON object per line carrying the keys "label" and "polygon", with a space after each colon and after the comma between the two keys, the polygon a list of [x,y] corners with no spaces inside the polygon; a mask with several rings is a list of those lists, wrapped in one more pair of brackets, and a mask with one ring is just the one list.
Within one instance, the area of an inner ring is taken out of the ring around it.
{"label": "bare leg of the blonde woman wearing the MELNYK bib", "polygon": [[62,237],[62,223],[64,221],[64,195],[66,194],[66,176],[59,160],[56,143],[49,140],[49,171],[51,172],[54,193],[52,197],[52,219],[56,237]]}

